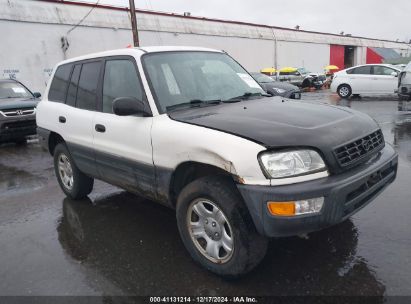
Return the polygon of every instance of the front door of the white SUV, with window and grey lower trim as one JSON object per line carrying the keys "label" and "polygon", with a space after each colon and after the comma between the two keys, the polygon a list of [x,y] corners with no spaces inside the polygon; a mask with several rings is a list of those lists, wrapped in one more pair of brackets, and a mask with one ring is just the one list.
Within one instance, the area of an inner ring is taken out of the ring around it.
{"label": "front door of the white SUV, with window and grey lower trim", "polygon": [[101,179],[151,197],[154,165],[151,146],[152,117],[113,114],[113,101],[134,97],[146,103],[135,59],[109,57],[101,79],[100,111],[93,126],[97,169]]}

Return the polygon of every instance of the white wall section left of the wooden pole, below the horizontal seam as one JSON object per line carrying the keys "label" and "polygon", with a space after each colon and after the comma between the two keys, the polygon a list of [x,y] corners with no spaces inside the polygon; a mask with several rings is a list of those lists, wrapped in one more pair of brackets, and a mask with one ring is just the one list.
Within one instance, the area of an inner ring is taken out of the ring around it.
{"label": "white wall section left of the wooden pole, below the horizontal seam", "polygon": [[83,27],[68,36],[70,47],[65,56],[61,37],[70,28],[0,20],[0,78],[15,77],[32,91],[43,92],[58,62],[87,53],[124,48],[130,43],[129,30]]}

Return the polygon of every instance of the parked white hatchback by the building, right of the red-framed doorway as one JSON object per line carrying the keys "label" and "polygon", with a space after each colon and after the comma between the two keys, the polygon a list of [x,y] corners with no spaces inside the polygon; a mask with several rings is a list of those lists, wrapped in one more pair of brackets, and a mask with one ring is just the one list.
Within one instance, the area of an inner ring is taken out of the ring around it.
{"label": "parked white hatchback by the building, right of the red-framed doorway", "polygon": [[351,95],[394,94],[400,69],[389,64],[366,64],[334,74],[331,91],[341,98]]}

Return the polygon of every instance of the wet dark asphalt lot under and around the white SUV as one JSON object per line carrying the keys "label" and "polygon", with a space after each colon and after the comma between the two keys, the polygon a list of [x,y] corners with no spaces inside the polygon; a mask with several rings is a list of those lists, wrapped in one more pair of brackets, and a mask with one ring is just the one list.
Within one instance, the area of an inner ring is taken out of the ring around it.
{"label": "wet dark asphalt lot under and around the white SUV", "polygon": [[102,182],[71,201],[36,141],[2,145],[0,295],[411,295],[411,112],[390,96],[303,99],[370,114],[399,151],[395,183],[351,219],[272,240],[255,271],[225,281],[192,262],[173,210]]}

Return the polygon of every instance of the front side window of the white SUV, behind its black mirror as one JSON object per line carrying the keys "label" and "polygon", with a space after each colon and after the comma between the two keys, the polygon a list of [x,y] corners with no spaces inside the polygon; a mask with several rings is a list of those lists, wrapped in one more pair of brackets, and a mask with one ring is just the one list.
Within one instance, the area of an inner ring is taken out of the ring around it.
{"label": "front side window of the white SUV, behind its black mirror", "polygon": [[113,100],[118,97],[135,97],[144,100],[143,89],[132,61],[127,59],[106,62],[103,86],[103,112],[113,112]]}

